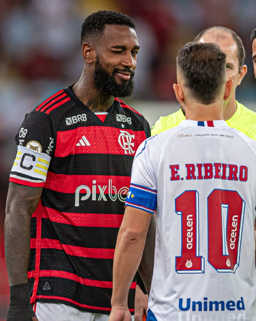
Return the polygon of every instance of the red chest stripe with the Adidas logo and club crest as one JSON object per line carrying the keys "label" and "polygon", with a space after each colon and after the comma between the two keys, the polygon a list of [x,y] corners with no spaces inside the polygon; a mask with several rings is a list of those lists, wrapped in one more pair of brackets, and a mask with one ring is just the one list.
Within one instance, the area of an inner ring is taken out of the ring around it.
{"label": "red chest stripe with the Adidas logo and club crest", "polygon": [[119,129],[108,126],[77,127],[57,132],[56,157],[70,154],[119,154],[134,156],[146,139],[144,130]]}

